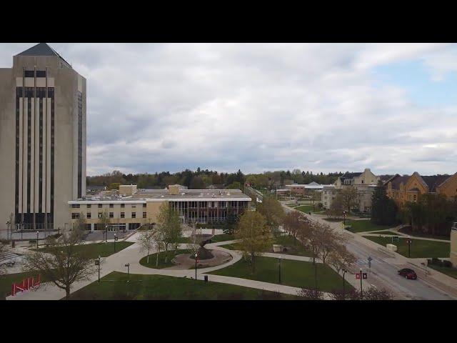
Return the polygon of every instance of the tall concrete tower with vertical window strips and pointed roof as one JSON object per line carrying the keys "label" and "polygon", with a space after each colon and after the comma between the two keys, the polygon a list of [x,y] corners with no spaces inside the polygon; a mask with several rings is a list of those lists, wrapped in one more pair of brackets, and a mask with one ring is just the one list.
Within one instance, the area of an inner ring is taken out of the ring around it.
{"label": "tall concrete tower with vertical window strips and pointed roof", "polygon": [[0,228],[64,229],[86,194],[86,79],[48,44],[0,69]]}

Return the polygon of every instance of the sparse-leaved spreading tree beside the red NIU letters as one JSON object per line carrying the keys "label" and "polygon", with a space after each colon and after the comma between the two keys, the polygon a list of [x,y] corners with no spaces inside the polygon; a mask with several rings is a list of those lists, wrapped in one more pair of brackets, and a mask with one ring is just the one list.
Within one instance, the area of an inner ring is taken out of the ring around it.
{"label": "sparse-leaved spreading tree beside the red NIU letters", "polygon": [[43,278],[64,289],[66,299],[69,299],[71,285],[88,280],[97,270],[88,250],[77,249],[80,242],[81,233],[78,229],[63,234],[59,241],[49,236],[46,244],[50,253],[41,250],[27,252],[24,272],[38,272]]}

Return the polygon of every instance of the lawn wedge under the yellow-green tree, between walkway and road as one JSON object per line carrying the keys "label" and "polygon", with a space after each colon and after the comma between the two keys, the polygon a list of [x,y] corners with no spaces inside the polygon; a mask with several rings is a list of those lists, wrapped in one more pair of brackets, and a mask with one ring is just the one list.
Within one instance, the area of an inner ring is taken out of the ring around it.
{"label": "lawn wedge under the yellow-green tree, between walkway and road", "polygon": [[[278,284],[278,259],[273,257],[256,257],[256,271],[252,274],[251,265],[244,259],[224,269],[208,274],[241,277],[262,282]],[[292,287],[314,288],[314,265],[312,262],[281,259],[281,284]],[[317,264],[317,285],[323,292],[343,289],[343,278],[325,264]],[[346,289],[352,289],[346,282]]]}

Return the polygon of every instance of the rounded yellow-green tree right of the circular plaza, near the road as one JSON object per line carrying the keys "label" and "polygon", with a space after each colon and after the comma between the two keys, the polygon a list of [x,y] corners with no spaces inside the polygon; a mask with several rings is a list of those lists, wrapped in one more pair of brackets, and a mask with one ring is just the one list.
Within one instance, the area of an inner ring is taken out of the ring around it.
{"label": "rounded yellow-green tree right of the circular plaza, near the road", "polygon": [[235,232],[240,239],[240,249],[245,259],[251,259],[252,273],[256,270],[256,257],[271,246],[271,231],[266,226],[265,217],[259,212],[244,212]]}

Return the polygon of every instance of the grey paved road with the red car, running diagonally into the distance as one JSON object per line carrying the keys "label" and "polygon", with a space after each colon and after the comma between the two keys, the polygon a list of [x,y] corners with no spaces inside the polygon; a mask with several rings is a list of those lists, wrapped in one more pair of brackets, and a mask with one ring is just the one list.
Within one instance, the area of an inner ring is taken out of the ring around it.
{"label": "grey paved road with the red car, running diagonally into the distance", "polygon": [[[293,209],[283,205],[286,212],[293,211]],[[342,232],[340,223],[338,222],[326,222],[316,216],[306,217],[318,222],[329,224],[333,229]],[[347,233],[347,232],[345,232]],[[396,299],[428,299],[428,300],[451,300],[455,299],[444,293],[440,289],[432,287],[425,280],[418,278],[417,280],[408,280],[398,276],[398,269],[405,267],[412,267],[408,265],[408,260],[405,259],[392,259],[390,256],[379,252],[376,249],[378,244],[375,244],[368,239],[364,239],[357,234],[348,234],[348,243],[346,247],[348,250],[359,259],[358,264],[353,266],[351,272],[358,272],[360,268],[363,272],[368,272],[368,263],[363,264],[368,256],[371,256],[373,261],[371,262],[371,272],[368,273],[368,279],[363,280],[362,288],[373,285],[378,288],[390,289],[393,294],[396,295]],[[395,262],[395,263],[392,263]],[[354,275],[346,274],[346,278],[354,278]]]}

